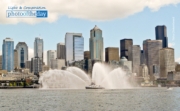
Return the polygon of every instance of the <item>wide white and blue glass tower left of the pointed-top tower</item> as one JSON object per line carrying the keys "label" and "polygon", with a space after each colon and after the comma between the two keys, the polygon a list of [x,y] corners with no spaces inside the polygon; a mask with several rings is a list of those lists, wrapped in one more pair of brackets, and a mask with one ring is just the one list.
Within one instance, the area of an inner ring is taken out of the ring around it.
{"label": "wide white and blue glass tower left of the pointed-top tower", "polygon": [[66,62],[72,63],[84,59],[84,38],[81,33],[66,33]]}

